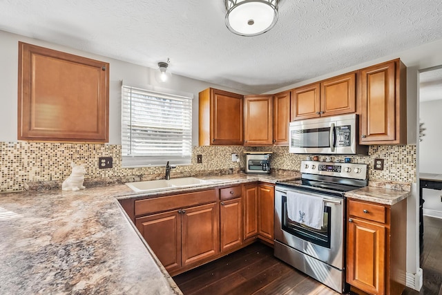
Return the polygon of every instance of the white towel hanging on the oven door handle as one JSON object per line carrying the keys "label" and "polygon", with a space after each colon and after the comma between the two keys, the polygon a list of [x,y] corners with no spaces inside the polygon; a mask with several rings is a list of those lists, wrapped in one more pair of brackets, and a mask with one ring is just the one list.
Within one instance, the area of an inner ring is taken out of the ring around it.
{"label": "white towel hanging on the oven door handle", "polygon": [[324,222],[324,199],[287,191],[287,216],[307,227],[321,229]]}

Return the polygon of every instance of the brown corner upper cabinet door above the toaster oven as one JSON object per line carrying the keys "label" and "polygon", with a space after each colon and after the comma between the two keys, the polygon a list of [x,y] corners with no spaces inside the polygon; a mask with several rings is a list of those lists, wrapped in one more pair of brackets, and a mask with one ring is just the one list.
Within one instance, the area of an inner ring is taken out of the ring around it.
{"label": "brown corner upper cabinet door above the toaster oven", "polygon": [[272,106],[272,96],[244,96],[244,146],[273,143]]}

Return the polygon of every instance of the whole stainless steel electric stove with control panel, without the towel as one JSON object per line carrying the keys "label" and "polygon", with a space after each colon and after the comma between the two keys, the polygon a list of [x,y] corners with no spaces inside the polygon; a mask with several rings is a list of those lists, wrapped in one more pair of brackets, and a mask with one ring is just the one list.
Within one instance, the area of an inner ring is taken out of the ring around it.
{"label": "whole stainless steel electric stove with control panel, without the towel", "polygon": [[[367,164],[301,162],[301,180],[276,182],[274,255],[337,292],[345,288],[344,193],[367,186]],[[287,192],[323,198],[321,229],[287,215]]]}

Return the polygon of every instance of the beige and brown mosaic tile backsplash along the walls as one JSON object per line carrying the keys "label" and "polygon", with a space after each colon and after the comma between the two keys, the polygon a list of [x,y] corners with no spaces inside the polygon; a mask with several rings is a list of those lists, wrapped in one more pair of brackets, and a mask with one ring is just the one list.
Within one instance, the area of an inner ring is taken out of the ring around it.
{"label": "beige and brown mosaic tile backsplash along the walls", "polygon": [[[243,146],[193,146],[192,164],[177,166],[171,178],[205,174],[238,173],[244,169],[244,151],[272,151],[274,171],[298,171],[306,155],[291,154],[287,146],[244,148]],[[240,155],[240,163],[231,161]],[[202,164],[196,156],[202,155]],[[99,169],[99,157],[113,157],[113,168]],[[344,160],[344,156],[333,160]],[[369,164],[370,180],[416,182],[416,146],[370,146],[368,156],[351,156],[352,162]],[[374,170],[374,159],[385,159],[384,170]],[[25,182],[61,182],[70,175],[70,162],[84,164],[89,183],[108,183],[164,178],[164,166],[122,168],[121,146],[111,144],[68,144],[46,142],[0,142],[0,192],[22,191]],[[85,180],[85,185],[86,185]]]}

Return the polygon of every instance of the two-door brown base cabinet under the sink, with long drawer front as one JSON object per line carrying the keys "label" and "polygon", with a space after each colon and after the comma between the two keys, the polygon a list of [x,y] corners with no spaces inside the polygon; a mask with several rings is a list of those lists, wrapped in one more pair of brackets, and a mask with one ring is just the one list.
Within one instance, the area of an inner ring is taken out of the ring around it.
{"label": "two-door brown base cabinet under the sink, with long drawer front", "polygon": [[[151,211],[155,207],[178,207],[135,218],[135,226],[169,273],[197,265],[220,252],[218,202],[210,202],[215,197],[211,190],[135,201],[135,212],[141,210],[137,207]],[[210,203],[186,206],[186,199]]]}

